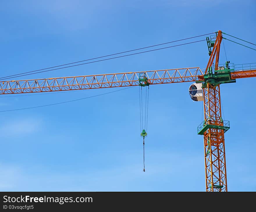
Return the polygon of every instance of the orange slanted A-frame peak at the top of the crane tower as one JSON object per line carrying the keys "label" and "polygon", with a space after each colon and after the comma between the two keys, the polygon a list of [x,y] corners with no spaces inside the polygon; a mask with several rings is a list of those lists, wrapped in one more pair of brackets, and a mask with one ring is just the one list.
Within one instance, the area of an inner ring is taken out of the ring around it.
{"label": "orange slanted A-frame peak at the top of the crane tower", "polygon": [[214,46],[213,46],[213,49],[212,49],[212,52],[211,52],[211,55],[210,55],[209,62],[208,62],[207,67],[205,69],[205,74],[207,74],[208,68],[212,66],[215,56],[216,56],[215,70],[218,69],[221,41],[222,41],[222,32],[221,32],[221,30],[219,30],[218,34],[217,34],[217,37],[216,37],[216,41],[214,43]]}

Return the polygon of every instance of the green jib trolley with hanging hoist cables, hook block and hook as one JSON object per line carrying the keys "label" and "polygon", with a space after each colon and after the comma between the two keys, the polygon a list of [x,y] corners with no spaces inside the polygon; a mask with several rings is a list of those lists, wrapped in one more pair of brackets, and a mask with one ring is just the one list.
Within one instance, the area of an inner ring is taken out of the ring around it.
{"label": "green jib trolley with hanging hoist cables, hook block and hook", "polygon": [[[145,118],[143,119],[143,87],[145,88]],[[143,137],[143,172],[145,172],[145,137],[147,137],[147,121],[148,121],[148,90],[149,82],[147,81],[146,73],[140,73],[139,76],[139,95],[140,95],[140,122],[141,122],[141,137]]]}

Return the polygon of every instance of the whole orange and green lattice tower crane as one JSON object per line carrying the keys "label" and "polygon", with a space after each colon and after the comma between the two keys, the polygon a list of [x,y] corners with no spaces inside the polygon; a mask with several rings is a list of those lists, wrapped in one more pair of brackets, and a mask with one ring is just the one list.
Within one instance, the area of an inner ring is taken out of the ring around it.
{"label": "whole orange and green lattice tower crane", "polygon": [[219,30],[214,38],[207,37],[206,39],[210,58],[204,72],[199,67],[191,67],[1,81],[0,94],[24,94],[127,86],[144,87],[167,83],[194,82],[189,87],[189,94],[193,100],[203,101],[204,105],[204,121],[198,126],[198,134],[204,137],[206,191],[227,191],[224,133],[230,129],[230,124],[229,121],[222,119],[220,85],[236,82],[236,79],[239,78],[256,77],[256,68],[246,65],[236,70],[236,67],[231,66],[229,61],[226,61],[225,65],[219,66],[222,34],[221,30]]}

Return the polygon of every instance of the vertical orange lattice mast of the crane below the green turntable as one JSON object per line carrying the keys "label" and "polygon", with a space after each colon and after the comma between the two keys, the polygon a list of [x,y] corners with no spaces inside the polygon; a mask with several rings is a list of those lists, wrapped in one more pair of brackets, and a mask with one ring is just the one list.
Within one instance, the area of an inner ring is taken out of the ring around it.
{"label": "vertical orange lattice mast of the crane below the green turntable", "polygon": [[[222,125],[220,85],[203,89],[204,117],[209,125]],[[204,133],[206,191],[227,191],[224,131],[209,128]]]}

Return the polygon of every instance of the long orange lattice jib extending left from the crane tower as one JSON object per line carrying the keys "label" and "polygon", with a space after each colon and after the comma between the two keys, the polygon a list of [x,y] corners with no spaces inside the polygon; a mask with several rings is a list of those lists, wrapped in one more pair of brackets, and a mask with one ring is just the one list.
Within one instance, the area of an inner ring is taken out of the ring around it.
{"label": "long orange lattice jib extending left from the crane tower", "polygon": [[140,73],[145,74],[147,81],[151,85],[194,82],[203,79],[203,73],[200,68],[192,67],[48,79],[12,80],[0,82],[0,94],[21,94],[135,86],[139,85]]}

